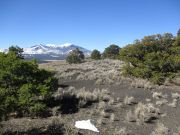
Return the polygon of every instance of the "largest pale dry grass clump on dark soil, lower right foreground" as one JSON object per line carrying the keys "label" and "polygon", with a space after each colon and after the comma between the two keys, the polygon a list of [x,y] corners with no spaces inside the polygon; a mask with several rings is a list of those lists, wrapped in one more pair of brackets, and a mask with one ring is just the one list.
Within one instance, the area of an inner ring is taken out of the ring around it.
{"label": "largest pale dry grass clump on dark soil, lower right foreground", "polygon": [[126,119],[129,122],[150,123],[158,118],[160,111],[153,104],[138,103],[134,112],[127,113]]}

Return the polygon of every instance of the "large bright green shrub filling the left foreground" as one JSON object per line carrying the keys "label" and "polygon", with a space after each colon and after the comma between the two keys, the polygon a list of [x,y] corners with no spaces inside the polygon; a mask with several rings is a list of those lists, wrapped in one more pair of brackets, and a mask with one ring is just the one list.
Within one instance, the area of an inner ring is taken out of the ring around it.
{"label": "large bright green shrub filling the left foreground", "polygon": [[53,76],[39,69],[36,61],[26,61],[13,51],[0,53],[0,116],[30,115],[36,103],[45,105],[58,85]]}

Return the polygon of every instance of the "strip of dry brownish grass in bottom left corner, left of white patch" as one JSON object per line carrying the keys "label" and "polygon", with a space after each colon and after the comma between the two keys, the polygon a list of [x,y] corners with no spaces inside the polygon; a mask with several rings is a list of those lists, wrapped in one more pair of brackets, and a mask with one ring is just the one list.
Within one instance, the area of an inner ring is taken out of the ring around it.
{"label": "strip of dry brownish grass in bottom left corner, left of white patch", "polygon": [[46,119],[11,119],[1,122],[0,134],[68,134],[77,133],[73,127],[65,125],[61,117]]}

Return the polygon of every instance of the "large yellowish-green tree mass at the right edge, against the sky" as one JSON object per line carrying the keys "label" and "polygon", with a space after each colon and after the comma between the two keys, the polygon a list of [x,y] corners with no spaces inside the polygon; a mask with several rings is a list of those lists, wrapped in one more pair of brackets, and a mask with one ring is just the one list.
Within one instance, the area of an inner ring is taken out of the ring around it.
{"label": "large yellowish-green tree mass at the right edge, against the sky", "polygon": [[[119,59],[127,62],[125,75],[141,77],[162,84],[180,71],[180,46],[172,34],[145,36],[122,48]],[[130,66],[131,65],[131,66]]]}

